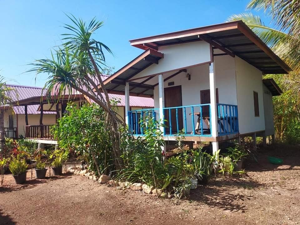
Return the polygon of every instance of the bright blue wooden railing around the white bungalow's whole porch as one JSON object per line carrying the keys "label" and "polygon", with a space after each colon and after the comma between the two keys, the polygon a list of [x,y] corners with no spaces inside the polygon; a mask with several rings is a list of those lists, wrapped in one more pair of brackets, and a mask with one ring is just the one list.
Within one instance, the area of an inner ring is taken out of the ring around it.
{"label": "bright blue wooden railing around the white bungalow's whole porch", "polygon": [[[146,126],[141,124],[147,119],[158,120],[158,108],[140,109],[128,112],[129,130],[134,135],[144,135]],[[177,136],[183,131],[184,136],[211,135],[211,108],[210,104],[178,106],[163,108],[165,121],[163,135]],[[238,132],[237,106],[217,104],[218,135],[227,135]]]}

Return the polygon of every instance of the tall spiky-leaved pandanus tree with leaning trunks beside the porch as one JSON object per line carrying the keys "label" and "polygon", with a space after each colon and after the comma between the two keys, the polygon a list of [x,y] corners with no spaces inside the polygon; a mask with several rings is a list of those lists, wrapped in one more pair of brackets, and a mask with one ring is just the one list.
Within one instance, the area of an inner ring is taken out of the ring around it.
{"label": "tall spiky-leaved pandanus tree with leaning trunks beside the porch", "polygon": [[119,126],[123,125],[123,121],[113,110],[101,77],[102,68],[105,68],[104,51],[110,54],[112,51],[104,43],[92,38],[103,26],[103,22],[93,18],[87,23],[73,15],[67,16],[72,23],[64,25],[68,30],[68,33],[62,34],[64,43],[51,52],[51,58],[32,63],[33,68],[28,72],[49,75],[44,86],[49,97],[53,93],[61,96],[76,90],[103,108],[106,112],[107,131],[113,143],[114,164],[119,169],[122,165]]}

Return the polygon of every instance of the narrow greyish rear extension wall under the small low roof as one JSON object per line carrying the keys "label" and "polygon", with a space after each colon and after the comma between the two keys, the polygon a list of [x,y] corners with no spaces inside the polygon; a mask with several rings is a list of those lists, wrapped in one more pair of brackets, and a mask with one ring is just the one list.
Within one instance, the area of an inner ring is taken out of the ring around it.
{"label": "narrow greyish rear extension wall under the small low roof", "polygon": [[265,85],[263,85],[263,109],[265,115],[266,136],[275,134],[272,98],[273,96],[270,90]]}

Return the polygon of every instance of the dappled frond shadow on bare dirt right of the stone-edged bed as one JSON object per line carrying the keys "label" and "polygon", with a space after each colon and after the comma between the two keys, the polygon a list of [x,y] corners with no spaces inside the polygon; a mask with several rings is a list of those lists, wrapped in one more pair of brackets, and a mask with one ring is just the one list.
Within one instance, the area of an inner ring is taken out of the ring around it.
{"label": "dappled frond shadow on bare dirt right of the stone-edged bed", "polygon": [[217,207],[231,212],[245,212],[247,210],[245,201],[252,196],[244,194],[243,189],[255,189],[261,184],[250,178],[240,179],[239,177],[229,177],[217,175],[209,181],[207,186],[198,186],[191,190],[189,199],[199,205]]}

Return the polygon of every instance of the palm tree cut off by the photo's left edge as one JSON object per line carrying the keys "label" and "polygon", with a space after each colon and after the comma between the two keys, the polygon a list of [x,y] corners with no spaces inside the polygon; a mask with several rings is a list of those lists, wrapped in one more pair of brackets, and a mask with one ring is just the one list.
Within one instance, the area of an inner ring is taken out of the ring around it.
{"label": "palm tree cut off by the photo's left edge", "polygon": [[10,103],[13,101],[9,96],[9,91],[12,88],[6,86],[7,80],[0,76],[0,153],[5,150],[5,131],[4,131],[4,112],[5,108],[10,107]]}

